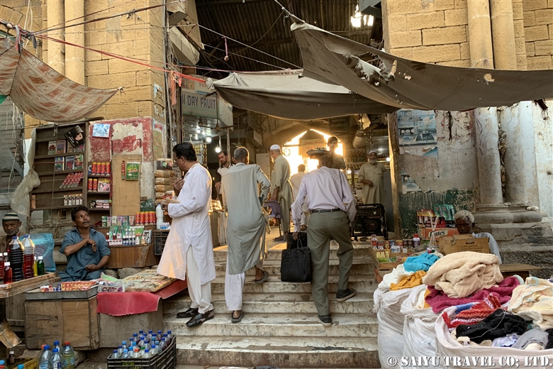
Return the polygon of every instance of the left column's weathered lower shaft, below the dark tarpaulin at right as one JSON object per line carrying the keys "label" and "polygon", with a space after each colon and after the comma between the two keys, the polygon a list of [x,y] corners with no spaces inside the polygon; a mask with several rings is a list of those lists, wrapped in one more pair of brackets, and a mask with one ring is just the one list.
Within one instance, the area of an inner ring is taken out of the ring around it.
{"label": "left column's weathered lower shaft, below the dark tarpaulin at right", "polygon": [[498,150],[498,116],[496,108],[474,109],[476,158],[481,206],[503,203],[501,162]]}

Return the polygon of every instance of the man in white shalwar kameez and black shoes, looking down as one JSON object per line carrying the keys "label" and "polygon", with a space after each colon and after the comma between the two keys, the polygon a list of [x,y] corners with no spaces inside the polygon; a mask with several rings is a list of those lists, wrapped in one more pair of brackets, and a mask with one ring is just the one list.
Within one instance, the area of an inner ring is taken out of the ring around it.
{"label": "man in white shalwar kameez and black shoes, looking down", "polygon": [[184,179],[175,184],[179,204],[162,206],[173,221],[157,272],[187,280],[192,303],[190,309],[177,314],[177,317],[191,318],[186,325],[193,327],[214,316],[211,281],[216,276],[208,214],[211,175],[198,163],[191,143],[175,145],[173,158],[179,169],[187,172]]}

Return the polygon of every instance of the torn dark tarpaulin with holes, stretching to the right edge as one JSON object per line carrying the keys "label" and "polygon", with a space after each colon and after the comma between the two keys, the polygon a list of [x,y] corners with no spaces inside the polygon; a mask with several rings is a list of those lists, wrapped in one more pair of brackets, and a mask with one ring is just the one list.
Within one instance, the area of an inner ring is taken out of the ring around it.
{"label": "torn dark tarpaulin with holes, stretching to the right edge", "polygon": [[[401,109],[464,111],[553,98],[553,70],[447,67],[389,55],[291,16],[303,75]],[[376,55],[379,67],[364,61]]]}

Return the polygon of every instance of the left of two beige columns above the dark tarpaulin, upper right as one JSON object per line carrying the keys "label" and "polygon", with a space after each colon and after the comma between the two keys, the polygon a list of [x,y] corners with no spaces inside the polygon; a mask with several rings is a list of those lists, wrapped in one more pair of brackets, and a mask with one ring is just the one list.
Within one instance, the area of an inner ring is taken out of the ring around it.
{"label": "left of two beige columns above the dark tarpaulin, upper right", "polygon": [[488,0],[467,0],[471,66],[493,69],[491,20]]}

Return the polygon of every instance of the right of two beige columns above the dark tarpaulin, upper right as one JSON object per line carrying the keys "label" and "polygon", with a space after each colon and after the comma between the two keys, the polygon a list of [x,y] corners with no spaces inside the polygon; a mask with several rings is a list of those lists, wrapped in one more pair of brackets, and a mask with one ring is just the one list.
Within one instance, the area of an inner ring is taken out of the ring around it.
{"label": "right of two beige columns above the dark tarpaulin, upper right", "polygon": [[494,67],[499,70],[516,70],[513,0],[490,0],[490,10]]}

